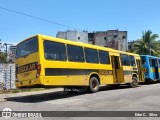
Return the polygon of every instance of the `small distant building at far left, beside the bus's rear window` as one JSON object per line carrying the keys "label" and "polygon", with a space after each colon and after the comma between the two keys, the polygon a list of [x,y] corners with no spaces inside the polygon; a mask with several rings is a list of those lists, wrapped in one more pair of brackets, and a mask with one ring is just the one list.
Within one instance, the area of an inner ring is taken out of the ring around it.
{"label": "small distant building at far left, beside the bus's rear window", "polygon": [[7,61],[15,62],[16,58],[16,45],[9,46]]}

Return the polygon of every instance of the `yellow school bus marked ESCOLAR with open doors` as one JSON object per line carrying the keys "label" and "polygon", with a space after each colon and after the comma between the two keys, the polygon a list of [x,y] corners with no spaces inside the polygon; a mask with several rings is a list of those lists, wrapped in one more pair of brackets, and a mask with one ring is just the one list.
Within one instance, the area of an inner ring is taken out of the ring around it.
{"label": "yellow school bus marked ESCOLAR with open doors", "polygon": [[16,86],[87,88],[129,84],[144,77],[138,54],[117,51],[45,35],[32,36],[17,45]]}

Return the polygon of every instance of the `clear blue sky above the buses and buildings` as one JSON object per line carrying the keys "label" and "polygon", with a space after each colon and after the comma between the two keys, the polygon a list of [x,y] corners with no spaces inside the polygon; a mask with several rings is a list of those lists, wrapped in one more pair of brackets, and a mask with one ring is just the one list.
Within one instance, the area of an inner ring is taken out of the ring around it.
{"label": "clear blue sky above the buses and buildings", "polygon": [[160,36],[160,0],[0,0],[1,42],[16,44],[35,34],[56,37],[73,28],[128,31],[128,41],[147,30]]}

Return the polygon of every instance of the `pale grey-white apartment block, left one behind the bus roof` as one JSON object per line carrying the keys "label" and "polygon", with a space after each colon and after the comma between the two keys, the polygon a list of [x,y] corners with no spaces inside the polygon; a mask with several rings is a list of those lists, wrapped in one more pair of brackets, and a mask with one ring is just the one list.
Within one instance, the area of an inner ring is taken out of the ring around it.
{"label": "pale grey-white apartment block, left one behind the bus roof", "polygon": [[72,40],[76,42],[88,43],[88,32],[87,31],[77,31],[77,30],[67,30],[64,32],[58,32],[57,38],[62,38],[66,40]]}

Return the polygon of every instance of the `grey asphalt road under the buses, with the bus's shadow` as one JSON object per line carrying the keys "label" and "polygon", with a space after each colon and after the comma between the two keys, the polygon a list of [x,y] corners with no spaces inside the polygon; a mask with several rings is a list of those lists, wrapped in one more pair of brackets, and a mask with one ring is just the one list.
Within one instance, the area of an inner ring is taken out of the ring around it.
{"label": "grey asphalt road under the buses, with the bus's shadow", "polygon": [[[25,94],[25,93],[24,93]],[[62,91],[43,92],[41,94],[6,97],[0,102],[0,111],[11,108],[13,111],[160,111],[160,83],[139,85],[137,88],[120,86],[101,89],[97,93],[66,94]],[[2,119],[2,118],[0,118]],[[3,118],[4,119],[4,118]],[[38,120],[58,119],[126,119],[155,120],[157,117],[56,117],[37,118]]]}

